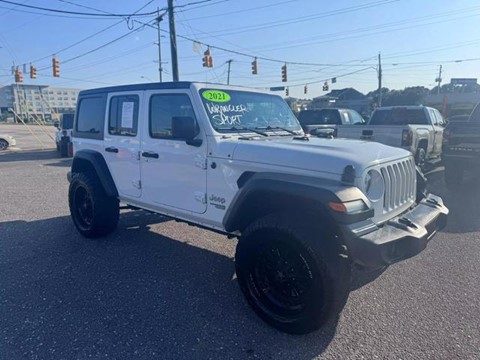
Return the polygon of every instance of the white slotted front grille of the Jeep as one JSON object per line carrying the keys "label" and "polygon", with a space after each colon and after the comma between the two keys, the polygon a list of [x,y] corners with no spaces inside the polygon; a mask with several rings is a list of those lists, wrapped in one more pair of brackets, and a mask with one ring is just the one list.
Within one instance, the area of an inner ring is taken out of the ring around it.
{"label": "white slotted front grille of the Jeep", "polygon": [[415,199],[416,172],[413,158],[382,166],[380,171],[385,182],[385,213]]}

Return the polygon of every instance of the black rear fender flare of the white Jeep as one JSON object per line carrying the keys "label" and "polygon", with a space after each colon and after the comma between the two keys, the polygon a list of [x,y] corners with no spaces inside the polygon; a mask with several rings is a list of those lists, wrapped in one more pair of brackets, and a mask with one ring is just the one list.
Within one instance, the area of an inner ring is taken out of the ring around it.
{"label": "black rear fender flare of the white Jeep", "polygon": [[117,187],[102,154],[88,149],[77,151],[72,162],[72,175],[88,169],[95,172],[107,196],[118,197]]}

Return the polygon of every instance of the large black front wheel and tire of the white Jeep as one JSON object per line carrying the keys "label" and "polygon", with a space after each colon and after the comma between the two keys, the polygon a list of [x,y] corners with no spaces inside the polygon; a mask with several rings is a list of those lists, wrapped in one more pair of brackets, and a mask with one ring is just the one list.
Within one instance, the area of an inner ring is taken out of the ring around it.
{"label": "large black front wheel and tire of the white Jeep", "polygon": [[337,316],[350,291],[348,259],[312,224],[268,215],[247,227],[235,255],[247,302],[265,322],[291,334],[312,332]]}

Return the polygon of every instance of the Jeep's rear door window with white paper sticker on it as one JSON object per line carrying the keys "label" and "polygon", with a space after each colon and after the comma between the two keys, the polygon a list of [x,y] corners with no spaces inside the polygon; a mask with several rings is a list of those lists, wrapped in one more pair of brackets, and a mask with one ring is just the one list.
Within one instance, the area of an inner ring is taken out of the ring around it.
{"label": "Jeep's rear door window with white paper sticker on it", "polygon": [[138,104],[137,95],[114,96],[110,99],[109,134],[137,136]]}

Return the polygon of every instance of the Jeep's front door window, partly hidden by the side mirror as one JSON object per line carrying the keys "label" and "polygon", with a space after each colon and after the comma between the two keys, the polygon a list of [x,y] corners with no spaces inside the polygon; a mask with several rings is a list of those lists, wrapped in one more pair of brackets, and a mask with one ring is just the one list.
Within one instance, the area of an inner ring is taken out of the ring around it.
{"label": "Jeep's front door window, partly hidden by the side mirror", "polygon": [[158,94],[150,98],[149,131],[152,138],[172,138],[172,119],[191,117],[196,120],[186,94]]}

